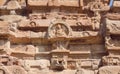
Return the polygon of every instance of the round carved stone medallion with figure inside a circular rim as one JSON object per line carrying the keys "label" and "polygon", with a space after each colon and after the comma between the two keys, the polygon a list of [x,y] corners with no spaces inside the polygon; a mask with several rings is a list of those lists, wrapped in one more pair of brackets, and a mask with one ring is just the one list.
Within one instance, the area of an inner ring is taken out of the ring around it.
{"label": "round carved stone medallion with figure inside a circular rim", "polygon": [[48,28],[48,36],[55,37],[69,37],[71,35],[71,28],[65,23],[52,23]]}

